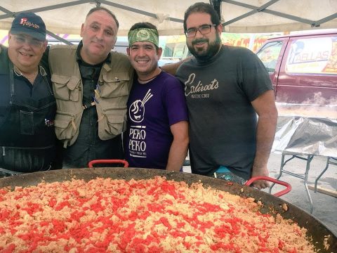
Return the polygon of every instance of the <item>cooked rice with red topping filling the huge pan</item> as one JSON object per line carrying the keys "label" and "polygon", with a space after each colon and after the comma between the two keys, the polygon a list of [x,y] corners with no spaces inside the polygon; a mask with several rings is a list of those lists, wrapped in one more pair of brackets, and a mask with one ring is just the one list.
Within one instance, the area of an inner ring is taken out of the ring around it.
{"label": "cooked rice with red topping filling the huge pan", "polygon": [[0,189],[0,252],[315,252],[306,229],[201,183],[73,179]]}

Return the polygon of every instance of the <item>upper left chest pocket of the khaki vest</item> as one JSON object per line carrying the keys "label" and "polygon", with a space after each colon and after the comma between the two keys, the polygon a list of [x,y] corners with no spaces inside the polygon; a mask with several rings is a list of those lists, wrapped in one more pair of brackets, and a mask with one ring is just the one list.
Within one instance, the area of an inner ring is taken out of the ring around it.
{"label": "upper left chest pocket of the khaki vest", "polygon": [[69,77],[60,74],[52,74],[53,91],[55,98],[62,100],[79,100],[79,83],[78,77]]}

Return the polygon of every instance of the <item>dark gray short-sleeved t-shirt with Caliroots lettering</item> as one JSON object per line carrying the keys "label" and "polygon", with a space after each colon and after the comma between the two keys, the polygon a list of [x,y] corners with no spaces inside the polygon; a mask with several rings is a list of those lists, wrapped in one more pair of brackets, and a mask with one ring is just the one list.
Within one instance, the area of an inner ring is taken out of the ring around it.
{"label": "dark gray short-sleeved t-shirt with Caliroots lettering", "polygon": [[183,63],[176,76],[185,84],[192,173],[223,165],[249,179],[257,124],[251,101],[272,89],[263,63],[249,49],[223,46],[207,63]]}

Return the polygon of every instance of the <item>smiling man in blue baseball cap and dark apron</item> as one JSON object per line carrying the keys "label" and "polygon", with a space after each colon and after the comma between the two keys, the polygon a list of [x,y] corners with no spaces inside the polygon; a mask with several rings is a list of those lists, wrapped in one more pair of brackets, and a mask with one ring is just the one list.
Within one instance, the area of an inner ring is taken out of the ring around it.
{"label": "smiling man in blue baseball cap and dark apron", "polygon": [[20,13],[8,33],[8,48],[0,47],[3,176],[50,169],[55,158],[55,98],[50,76],[39,65],[46,46],[41,17]]}

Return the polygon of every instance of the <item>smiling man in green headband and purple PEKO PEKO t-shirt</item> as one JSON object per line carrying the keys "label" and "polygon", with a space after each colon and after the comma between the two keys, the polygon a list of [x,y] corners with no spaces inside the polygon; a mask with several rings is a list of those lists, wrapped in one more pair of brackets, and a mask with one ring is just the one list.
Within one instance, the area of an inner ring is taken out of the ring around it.
{"label": "smiling man in green headband and purple PEKO PEKO t-shirt", "polygon": [[183,86],[158,67],[162,49],[154,25],[133,25],[128,44],[128,56],[138,79],[128,98],[126,160],[130,167],[179,171],[188,145]]}

